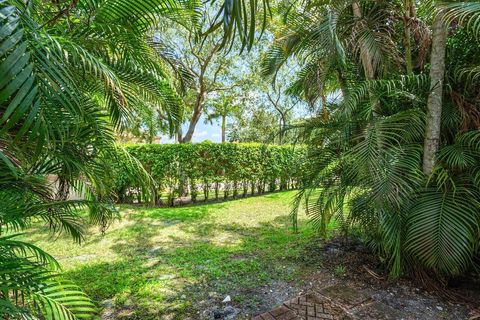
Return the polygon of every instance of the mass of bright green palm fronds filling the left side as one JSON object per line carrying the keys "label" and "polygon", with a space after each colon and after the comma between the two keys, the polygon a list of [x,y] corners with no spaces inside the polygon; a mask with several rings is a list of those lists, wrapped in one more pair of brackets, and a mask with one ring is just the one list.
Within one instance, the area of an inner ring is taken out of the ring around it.
{"label": "mass of bright green palm fronds filling the left side", "polygon": [[[162,19],[191,27],[198,8],[196,1],[0,0],[0,318],[96,313],[61,280],[55,259],[19,232],[38,220],[77,242],[85,222],[105,230],[116,216],[116,157],[127,159],[124,172],[148,187],[148,175],[116,147],[115,135],[145,113],[160,115],[175,131],[183,103],[152,29]],[[252,3],[240,11],[220,5],[213,23],[230,22],[223,44],[239,34],[236,21],[248,20],[251,9]],[[254,32],[240,32],[245,45]],[[72,191],[84,200],[69,200]]]}

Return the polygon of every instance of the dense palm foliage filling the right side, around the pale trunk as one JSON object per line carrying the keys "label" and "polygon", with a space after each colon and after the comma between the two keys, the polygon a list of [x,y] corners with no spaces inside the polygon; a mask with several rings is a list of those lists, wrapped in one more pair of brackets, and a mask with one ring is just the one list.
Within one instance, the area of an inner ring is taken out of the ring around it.
{"label": "dense palm foliage filling the right side, around the pale trunk", "polygon": [[[294,128],[311,164],[294,222],[306,202],[319,229],[335,218],[346,231],[360,231],[392,277],[478,272],[479,9],[476,2],[313,1],[285,10],[285,34],[267,55],[265,73],[292,55],[304,57],[292,93],[311,102],[342,93]],[[445,80],[431,83],[430,23],[438,12],[448,35]],[[438,85],[439,146],[425,173],[427,101]]]}

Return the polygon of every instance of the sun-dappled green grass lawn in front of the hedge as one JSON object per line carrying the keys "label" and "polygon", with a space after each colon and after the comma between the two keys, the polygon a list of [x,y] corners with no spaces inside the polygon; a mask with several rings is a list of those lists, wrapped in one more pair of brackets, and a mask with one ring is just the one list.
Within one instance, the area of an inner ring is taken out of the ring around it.
{"label": "sun-dappled green grass lawn in front of the hedge", "polygon": [[104,318],[198,319],[203,306],[221,305],[226,295],[246,318],[258,310],[259,288],[319,265],[308,252],[312,228],[305,220],[299,233],[290,228],[294,194],[178,208],[121,207],[120,221],[105,235],[92,228],[82,245],[52,239],[42,226],[29,237],[58,259]]}

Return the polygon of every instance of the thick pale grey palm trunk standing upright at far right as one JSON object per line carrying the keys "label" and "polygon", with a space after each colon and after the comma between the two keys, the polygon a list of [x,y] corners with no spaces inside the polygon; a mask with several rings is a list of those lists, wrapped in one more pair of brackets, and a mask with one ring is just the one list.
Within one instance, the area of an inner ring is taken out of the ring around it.
{"label": "thick pale grey palm trunk standing upright at far right", "polygon": [[432,54],[430,58],[430,94],[427,101],[427,126],[423,147],[423,172],[430,174],[440,143],[440,129],[445,76],[445,47],[447,29],[443,24],[443,13],[438,13],[433,22]]}

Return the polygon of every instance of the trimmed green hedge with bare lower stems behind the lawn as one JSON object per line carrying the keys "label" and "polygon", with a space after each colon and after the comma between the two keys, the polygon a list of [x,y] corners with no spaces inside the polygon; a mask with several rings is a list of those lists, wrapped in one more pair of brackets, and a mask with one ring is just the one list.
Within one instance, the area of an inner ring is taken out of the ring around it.
{"label": "trimmed green hedge with bare lower stems behind the lawn", "polygon": [[[148,144],[126,149],[154,179],[155,202],[168,205],[187,195],[196,202],[200,197],[206,201],[296,188],[305,155],[301,146],[253,143]],[[121,170],[116,185],[120,202],[147,201]]]}

